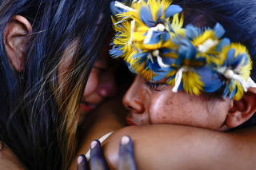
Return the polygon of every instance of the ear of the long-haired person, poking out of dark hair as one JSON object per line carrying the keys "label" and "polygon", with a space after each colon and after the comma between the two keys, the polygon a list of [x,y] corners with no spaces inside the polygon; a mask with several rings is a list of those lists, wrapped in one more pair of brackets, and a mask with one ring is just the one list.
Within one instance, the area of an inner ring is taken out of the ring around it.
{"label": "ear of the long-haired person, poking out of dark hair", "polygon": [[27,34],[32,32],[30,22],[21,15],[15,15],[6,25],[4,31],[4,45],[6,55],[15,70],[24,69],[26,55]]}

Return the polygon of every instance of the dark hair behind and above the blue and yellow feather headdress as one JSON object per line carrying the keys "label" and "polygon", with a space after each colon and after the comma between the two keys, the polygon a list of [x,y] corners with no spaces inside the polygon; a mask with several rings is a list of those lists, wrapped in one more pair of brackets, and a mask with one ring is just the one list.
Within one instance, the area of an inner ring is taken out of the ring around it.
{"label": "dark hair behind and above the blue and yellow feather headdress", "polygon": [[[231,42],[246,45],[254,61],[251,78],[256,81],[256,3],[250,0],[174,0],[184,9],[185,24],[213,27],[219,22]],[[238,128],[256,125],[256,114]]]}

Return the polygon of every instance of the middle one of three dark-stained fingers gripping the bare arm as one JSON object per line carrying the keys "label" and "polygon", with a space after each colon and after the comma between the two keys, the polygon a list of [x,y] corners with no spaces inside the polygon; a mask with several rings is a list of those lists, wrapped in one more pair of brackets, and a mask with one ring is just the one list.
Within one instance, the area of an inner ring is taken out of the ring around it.
{"label": "middle one of three dark-stained fingers gripping the bare arm", "polygon": [[90,169],[91,170],[108,170],[106,160],[104,158],[101,143],[94,140],[90,144]]}

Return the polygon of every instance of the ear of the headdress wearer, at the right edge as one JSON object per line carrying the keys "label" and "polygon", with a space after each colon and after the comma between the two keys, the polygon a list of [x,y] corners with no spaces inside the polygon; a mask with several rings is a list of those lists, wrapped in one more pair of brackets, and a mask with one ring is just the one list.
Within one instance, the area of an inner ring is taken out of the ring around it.
{"label": "ear of the headdress wearer, at the right edge", "polygon": [[238,127],[248,121],[256,112],[256,88],[249,88],[240,101],[234,101],[226,116],[226,125]]}

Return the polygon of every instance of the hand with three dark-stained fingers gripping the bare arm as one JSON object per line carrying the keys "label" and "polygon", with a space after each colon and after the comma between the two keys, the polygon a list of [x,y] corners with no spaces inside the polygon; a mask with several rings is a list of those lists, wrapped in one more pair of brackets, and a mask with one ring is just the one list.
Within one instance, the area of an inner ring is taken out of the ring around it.
{"label": "hand with three dark-stained fingers gripping the bare arm", "polygon": [[[136,170],[133,143],[129,136],[122,136],[119,146],[118,170]],[[108,170],[101,144],[94,140],[90,147],[90,168],[86,156],[78,156],[78,170]]]}

